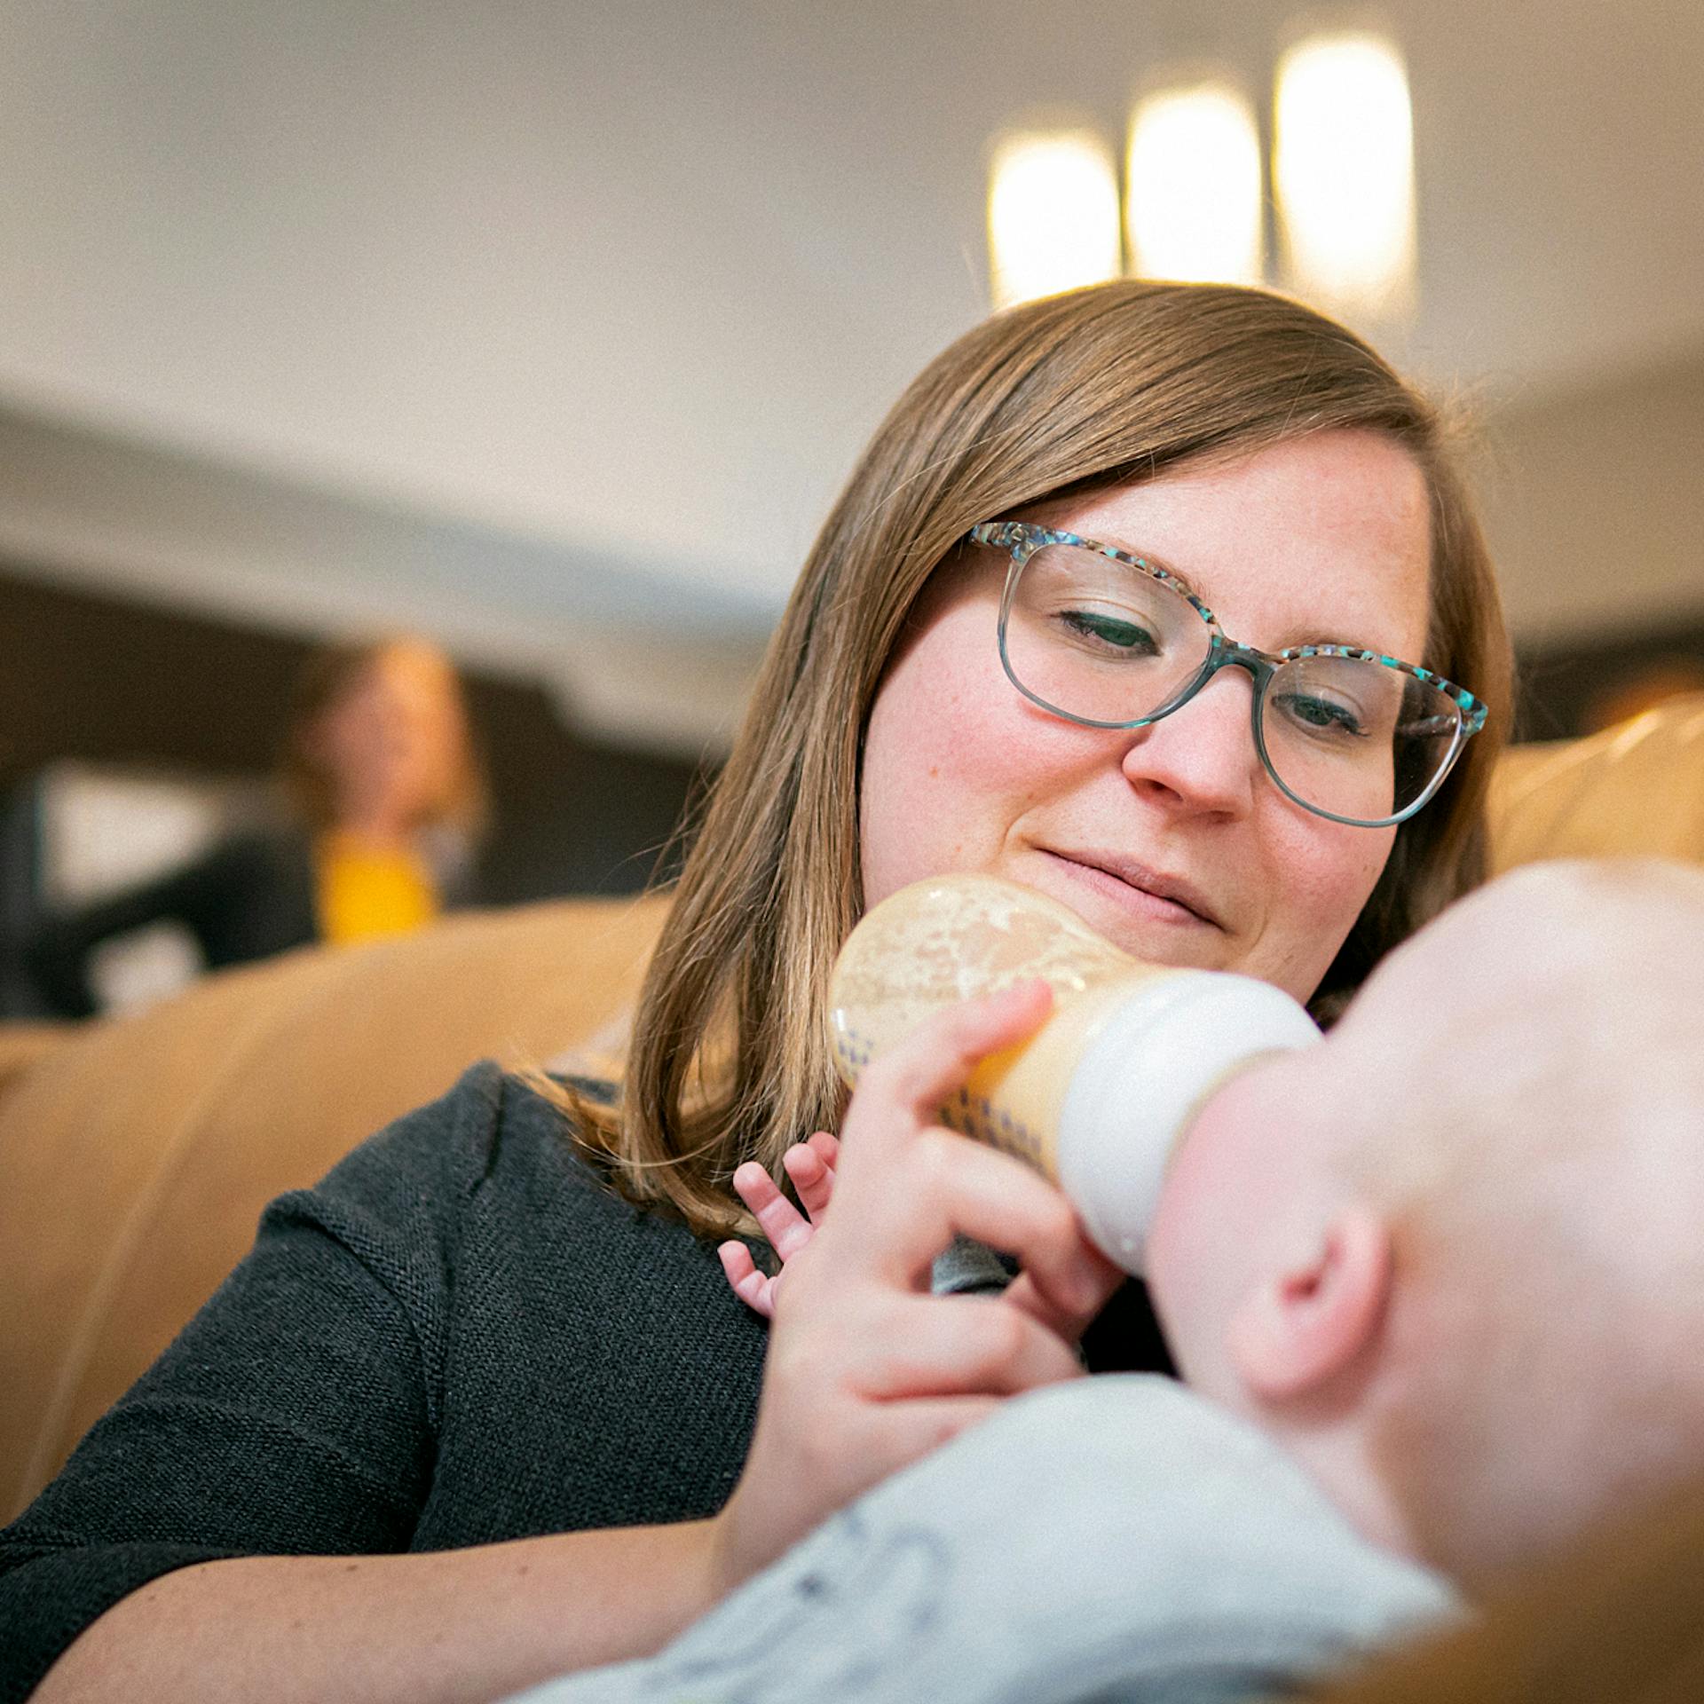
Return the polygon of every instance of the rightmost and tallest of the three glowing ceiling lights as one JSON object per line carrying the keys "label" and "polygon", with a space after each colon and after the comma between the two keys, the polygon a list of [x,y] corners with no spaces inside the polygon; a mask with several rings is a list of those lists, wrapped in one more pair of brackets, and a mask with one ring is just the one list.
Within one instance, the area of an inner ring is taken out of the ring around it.
{"label": "rightmost and tallest of the three glowing ceiling lights", "polygon": [[1370,34],[1310,36],[1278,61],[1273,187],[1288,283],[1339,312],[1414,302],[1414,118],[1402,56]]}

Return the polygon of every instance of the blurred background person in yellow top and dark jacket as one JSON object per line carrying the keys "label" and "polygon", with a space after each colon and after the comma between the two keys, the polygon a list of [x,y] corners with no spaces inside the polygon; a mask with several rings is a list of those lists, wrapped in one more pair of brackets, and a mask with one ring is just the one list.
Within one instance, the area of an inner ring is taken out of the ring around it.
{"label": "blurred background person in yellow top and dark jacket", "polygon": [[450,659],[417,637],[332,646],[296,682],[288,816],[204,857],[51,917],[29,946],[43,997],[94,1016],[97,949],[176,922],[208,970],[310,942],[407,934],[474,898],[486,782]]}

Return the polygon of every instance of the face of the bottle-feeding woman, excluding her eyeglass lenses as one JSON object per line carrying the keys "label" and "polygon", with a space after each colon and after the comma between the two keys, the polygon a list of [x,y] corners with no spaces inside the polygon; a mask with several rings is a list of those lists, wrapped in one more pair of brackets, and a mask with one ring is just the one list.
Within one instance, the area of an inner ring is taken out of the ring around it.
{"label": "face of the bottle-feeding woman, excluding her eyeglass lenses", "polygon": [[[1297,438],[1022,518],[1159,557],[1263,651],[1329,641],[1425,661],[1426,484],[1385,436]],[[1007,562],[976,549],[942,569],[876,694],[866,901],[949,871],[1007,876],[1137,958],[1244,971],[1305,1000],[1396,830],[1333,823],[1278,791],[1246,670],[1220,670],[1148,728],[1082,728],[1031,704],[1000,668]]]}

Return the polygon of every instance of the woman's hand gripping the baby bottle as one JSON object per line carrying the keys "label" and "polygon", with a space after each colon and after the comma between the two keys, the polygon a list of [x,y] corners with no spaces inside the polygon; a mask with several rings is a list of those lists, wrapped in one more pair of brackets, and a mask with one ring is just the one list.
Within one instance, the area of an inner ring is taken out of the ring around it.
{"label": "woman's hand gripping the baby bottle", "polygon": [[[859,1084],[833,1212],[789,1254],[751,1454],[716,1520],[717,1590],[1004,1397],[1080,1373],[1072,1343],[1123,1275],[1046,1179],[934,1121],[1048,1009],[1039,982],[953,1007]],[[930,1295],[930,1264],[961,1234],[1016,1254],[1026,1288]]]}

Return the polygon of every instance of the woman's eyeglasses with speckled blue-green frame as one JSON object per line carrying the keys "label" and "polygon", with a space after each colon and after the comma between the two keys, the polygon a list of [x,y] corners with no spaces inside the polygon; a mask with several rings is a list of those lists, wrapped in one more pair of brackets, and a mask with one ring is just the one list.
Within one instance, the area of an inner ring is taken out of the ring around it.
{"label": "woman's eyeglasses with speckled blue-green frame", "polygon": [[1024,521],[985,521],[970,542],[1010,552],[1000,663],[1026,699],[1087,728],[1145,728],[1218,670],[1246,668],[1266,774],[1334,823],[1406,821],[1484,728],[1479,699],[1414,663],[1341,644],[1237,644],[1176,574],[1114,545]]}

